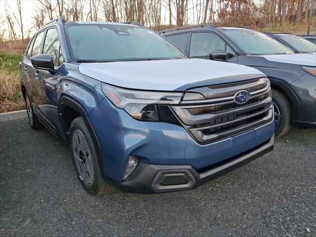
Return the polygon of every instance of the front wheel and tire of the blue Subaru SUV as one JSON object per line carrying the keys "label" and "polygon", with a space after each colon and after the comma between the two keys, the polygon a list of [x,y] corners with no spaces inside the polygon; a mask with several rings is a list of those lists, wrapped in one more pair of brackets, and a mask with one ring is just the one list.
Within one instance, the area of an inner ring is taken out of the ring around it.
{"label": "front wheel and tire of the blue Subaru SUV", "polygon": [[83,118],[70,125],[70,144],[73,162],[83,188],[91,195],[102,195],[114,188],[105,183],[99,169],[95,146]]}

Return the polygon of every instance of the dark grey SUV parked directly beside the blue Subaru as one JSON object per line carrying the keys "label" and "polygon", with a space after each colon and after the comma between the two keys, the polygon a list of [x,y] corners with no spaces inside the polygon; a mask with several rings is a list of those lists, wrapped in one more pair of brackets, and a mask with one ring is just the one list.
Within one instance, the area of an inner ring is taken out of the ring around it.
{"label": "dark grey SUV parked directly beside the blue Subaru", "polygon": [[291,125],[316,127],[316,57],[294,52],[280,42],[249,28],[212,24],[160,32],[191,58],[221,60],[250,66],[271,81],[276,136]]}

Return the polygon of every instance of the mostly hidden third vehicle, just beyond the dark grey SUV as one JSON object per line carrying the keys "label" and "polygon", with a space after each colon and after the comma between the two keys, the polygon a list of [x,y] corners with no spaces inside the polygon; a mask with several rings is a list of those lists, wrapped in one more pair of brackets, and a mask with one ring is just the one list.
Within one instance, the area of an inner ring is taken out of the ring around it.
{"label": "mostly hidden third vehicle, just beyond the dark grey SUV", "polygon": [[316,53],[316,44],[302,37],[288,33],[273,34],[271,32],[263,32],[273,39],[283,43],[295,53]]}

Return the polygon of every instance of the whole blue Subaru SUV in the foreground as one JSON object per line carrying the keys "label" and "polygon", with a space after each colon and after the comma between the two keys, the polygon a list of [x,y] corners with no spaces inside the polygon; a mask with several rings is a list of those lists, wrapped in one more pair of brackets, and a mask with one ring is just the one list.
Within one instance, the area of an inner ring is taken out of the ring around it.
{"label": "whole blue Subaru SUV in the foreground", "polygon": [[135,22],[58,18],[20,68],[30,125],[70,144],[93,195],[193,189],[273,150],[264,74],[189,59]]}

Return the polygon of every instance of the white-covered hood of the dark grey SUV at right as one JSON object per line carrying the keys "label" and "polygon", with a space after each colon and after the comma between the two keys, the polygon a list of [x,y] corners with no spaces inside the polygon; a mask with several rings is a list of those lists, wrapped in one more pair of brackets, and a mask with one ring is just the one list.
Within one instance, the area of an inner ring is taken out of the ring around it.
{"label": "white-covered hood of the dark grey SUV at right", "polygon": [[314,53],[263,55],[262,57],[272,62],[316,66],[316,55]]}

